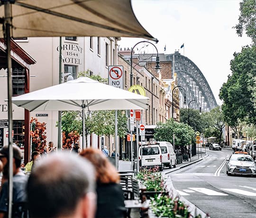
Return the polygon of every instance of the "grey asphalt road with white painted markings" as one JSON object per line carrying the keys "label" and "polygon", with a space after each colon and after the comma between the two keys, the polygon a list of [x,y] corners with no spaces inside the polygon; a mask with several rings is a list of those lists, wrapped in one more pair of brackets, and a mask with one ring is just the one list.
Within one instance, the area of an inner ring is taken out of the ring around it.
{"label": "grey asphalt road with white painted markings", "polygon": [[202,161],[167,174],[167,183],[211,218],[256,218],[256,177],[226,174],[231,150],[206,152]]}

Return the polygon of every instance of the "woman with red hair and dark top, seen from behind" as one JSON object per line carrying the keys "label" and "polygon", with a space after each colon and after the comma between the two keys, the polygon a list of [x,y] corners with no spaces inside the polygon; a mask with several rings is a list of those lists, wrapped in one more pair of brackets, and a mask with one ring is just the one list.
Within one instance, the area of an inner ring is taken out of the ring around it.
{"label": "woman with red hair and dark top, seen from behind", "polygon": [[124,218],[126,214],[124,196],[116,168],[99,149],[86,148],[80,155],[88,159],[96,171],[95,218]]}

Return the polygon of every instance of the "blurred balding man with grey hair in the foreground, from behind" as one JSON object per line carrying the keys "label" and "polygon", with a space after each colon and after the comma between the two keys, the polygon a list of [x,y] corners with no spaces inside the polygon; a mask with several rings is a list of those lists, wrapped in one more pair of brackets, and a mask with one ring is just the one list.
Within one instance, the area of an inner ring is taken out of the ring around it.
{"label": "blurred balding man with grey hair in the foreground, from behind", "polygon": [[95,175],[91,163],[73,153],[42,158],[27,182],[32,218],[94,218]]}

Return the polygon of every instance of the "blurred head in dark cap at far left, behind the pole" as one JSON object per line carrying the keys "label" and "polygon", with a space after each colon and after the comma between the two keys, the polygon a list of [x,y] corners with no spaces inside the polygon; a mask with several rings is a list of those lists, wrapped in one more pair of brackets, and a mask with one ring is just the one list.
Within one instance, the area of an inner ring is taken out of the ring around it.
{"label": "blurred head in dark cap at far left, behind the pole", "polygon": [[[13,169],[18,169],[21,164],[22,154],[16,144],[12,144],[13,148]],[[3,164],[4,171],[8,171],[9,146],[5,145],[0,149],[0,160]]]}

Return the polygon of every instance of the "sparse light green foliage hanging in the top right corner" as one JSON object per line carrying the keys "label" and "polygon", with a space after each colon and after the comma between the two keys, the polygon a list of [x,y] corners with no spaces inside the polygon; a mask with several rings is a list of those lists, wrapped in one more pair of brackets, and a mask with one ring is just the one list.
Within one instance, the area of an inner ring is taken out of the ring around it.
{"label": "sparse light green foliage hanging in the top right corner", "polygon": [[256,44],[256,0],[243,0],[240,2],[240,16],[236,28],[239,36],[246,32],[254,44]]}

